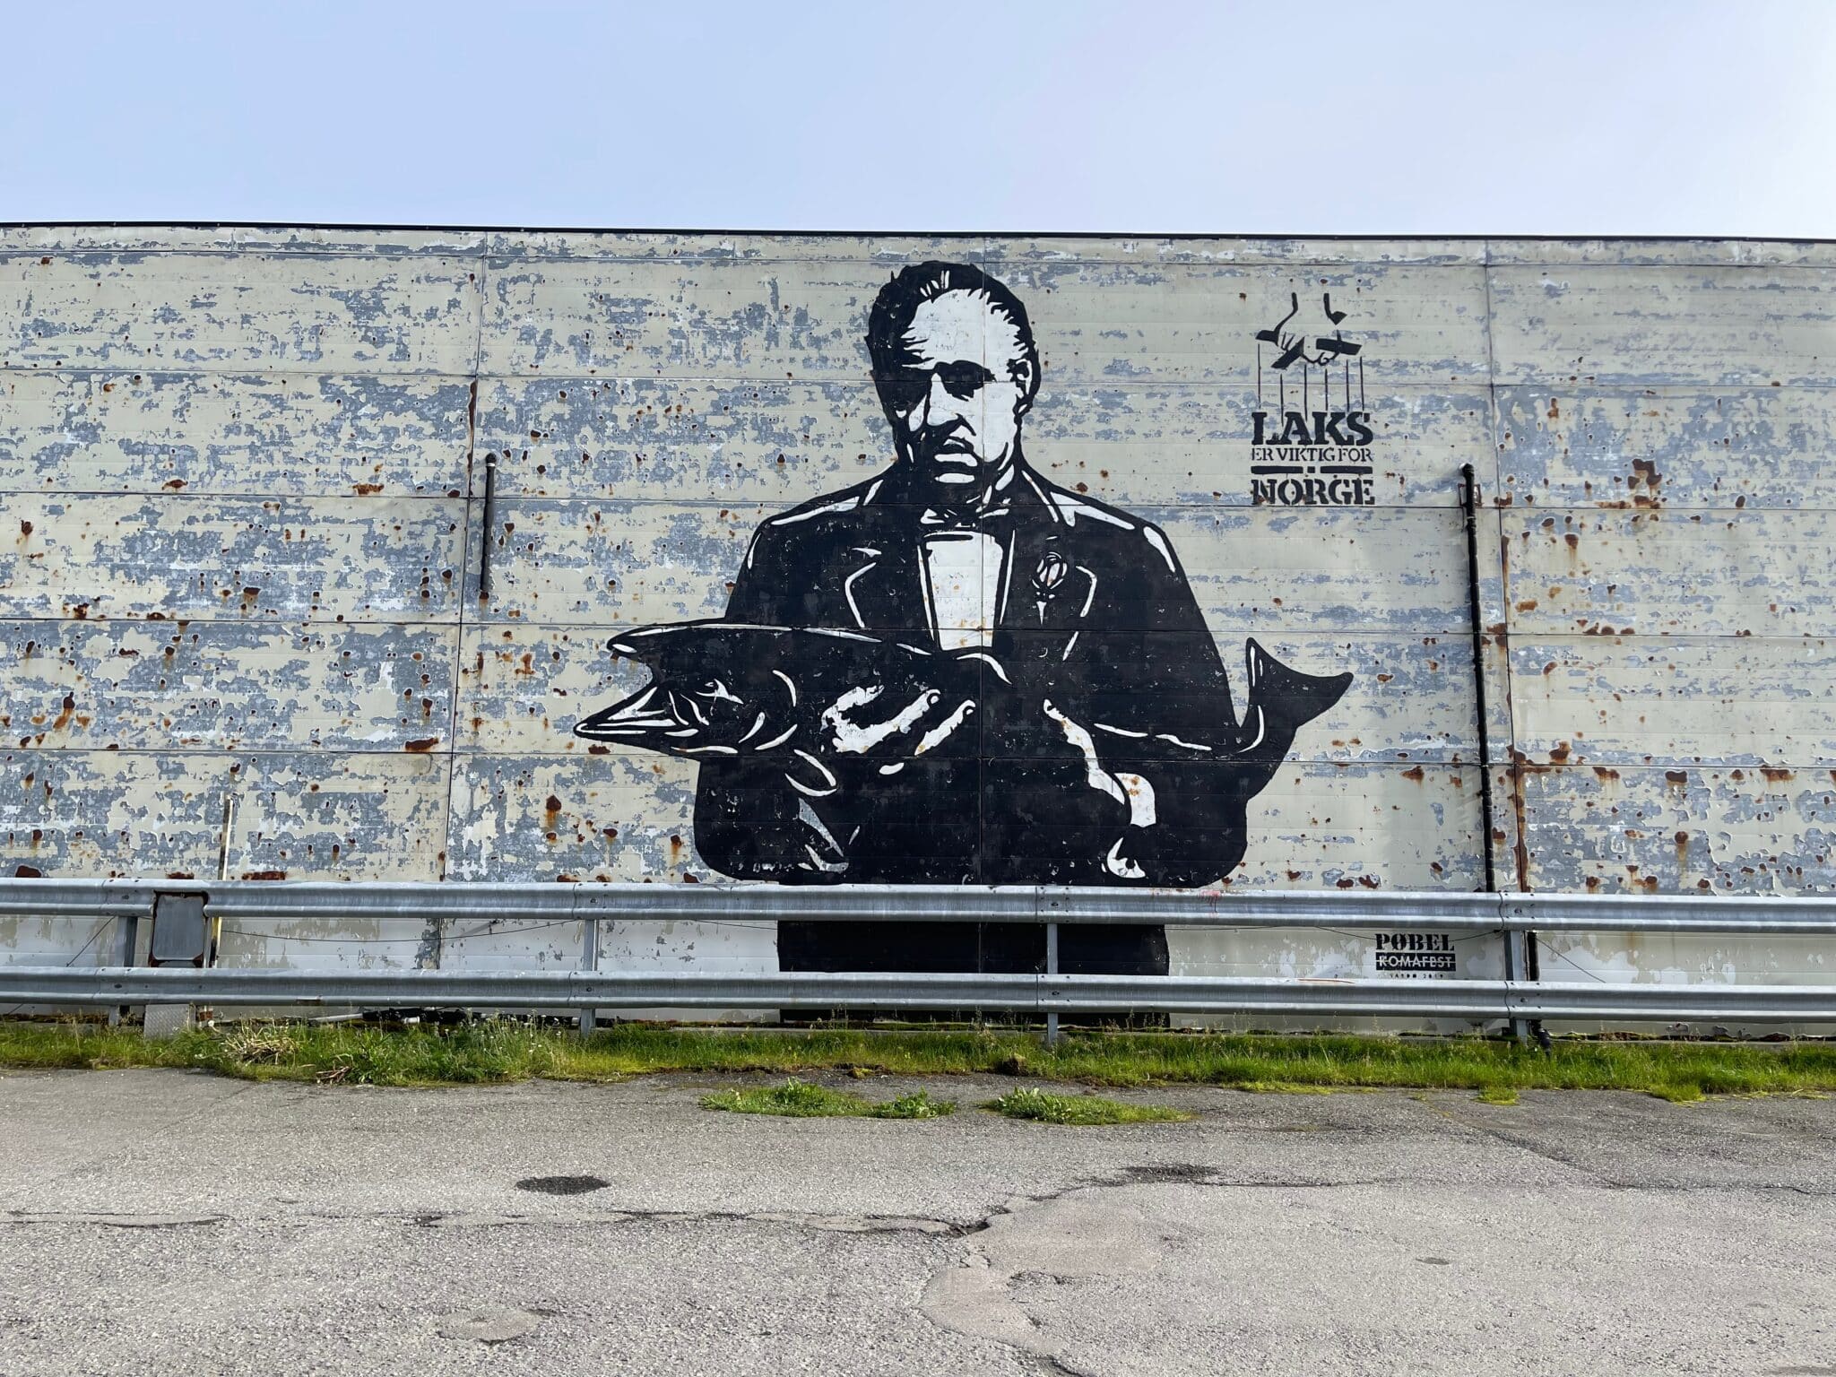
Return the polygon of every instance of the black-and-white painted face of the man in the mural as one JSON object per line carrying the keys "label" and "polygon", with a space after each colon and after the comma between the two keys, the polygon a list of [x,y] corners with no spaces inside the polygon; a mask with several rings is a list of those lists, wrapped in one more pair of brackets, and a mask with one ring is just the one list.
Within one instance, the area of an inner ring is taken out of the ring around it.
{"label": "black-and-white painted face of the man in the mural", "polygon": [[988,297],[946,292],[922,301],[879,400],[900,457],[944,487],[988,483],[1013,457],[1032,400],[1019,330]]}

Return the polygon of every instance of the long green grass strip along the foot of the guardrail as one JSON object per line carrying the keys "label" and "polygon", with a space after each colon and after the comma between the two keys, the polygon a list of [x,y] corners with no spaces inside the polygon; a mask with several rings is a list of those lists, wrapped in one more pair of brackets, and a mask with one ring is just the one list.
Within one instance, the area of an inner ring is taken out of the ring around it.
{"label": "long green grass strip along the foot of the guardrail", "polygon": [[975,1030],[711,1030],[615,1024],[591,1037],[510,1019],[419,1024],[224,1024],[169,1041],[97,1023],[0,1023],[0,1067],[187,1067],[250,1080],[477,1085],[531,1078],[604,1081],[646,1072],[861,1070],[1010,1074],[1096,1087],[1226,1085],[1245,1091],[1406,1087],[1829,1094],[1836,1043],[1557,1039],[1550,1052],[1480,1037]]}

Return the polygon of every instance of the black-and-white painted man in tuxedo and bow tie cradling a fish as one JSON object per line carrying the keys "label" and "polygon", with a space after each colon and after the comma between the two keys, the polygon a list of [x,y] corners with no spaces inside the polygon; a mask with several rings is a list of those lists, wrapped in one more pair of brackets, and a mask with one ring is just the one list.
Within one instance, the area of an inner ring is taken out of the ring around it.
{"label": "black-and-white painted man in tuxedo and bow tie cradling a fish", "polygon": [[[1243,856],[1250,795],[1349,676],[1294,674],[1252,643],[1265,683],[1237,722],[1166,536],[1028,465],[1041,360],[1008,286],[968,264],[909,266],[874,301],[867,343],[894,463],[767,520],[725,622],[859,632],[957,672],[850,685],[800,762],[703,758],[701,857],[789,883],[1219,879]],[[1039,942],[973,924],[778,935],[784,969],[1032,969]],[[1067,927],[1059,957],[1065,971],[1166,973],[1166,938]]]}

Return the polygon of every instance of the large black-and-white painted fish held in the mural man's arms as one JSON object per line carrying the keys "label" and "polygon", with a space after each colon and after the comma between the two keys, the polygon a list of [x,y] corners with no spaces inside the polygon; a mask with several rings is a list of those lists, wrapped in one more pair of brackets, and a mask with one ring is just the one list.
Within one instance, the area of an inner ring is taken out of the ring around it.
{"label": "large black-and-white painted fish held in the mural man's arms", "polygon": [[[946,744],[947,729],[973,712],[984,676],[1001,674],[991,657],[977,652],[936,652],[859,632],[722,621],[644,626],[615,637],[610,648],[641,661],[652,681],[582,720],[575,734],[690,760],[865,753],[876,742],[859,738],[846,709],[867,705],[892,729],[927,727],[916,736],[918,753],[929,749],[927,742],[940,753],[962,749]],[[1349,674],[1289,668],[1256,641],[1245,646],[1245,668],[1248,700],[1241,722],[1219,723],[1199,740],[1190,731],[1162,736],[1162,747],[1190,758],[1274,766],[1287,756],[1294,733],[1337,703],[1351,683]]]}

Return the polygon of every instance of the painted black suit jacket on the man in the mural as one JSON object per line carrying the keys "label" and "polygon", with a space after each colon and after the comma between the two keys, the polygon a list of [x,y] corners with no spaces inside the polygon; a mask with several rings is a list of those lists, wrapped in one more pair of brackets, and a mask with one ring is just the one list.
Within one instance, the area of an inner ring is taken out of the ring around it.
{"label": "painted black suit jacket on the man in the mural", "polygon": [[[705,760],[696,845],[709,865],[791,883],[1182,887],[1236,867],[1267,771],[1252,788],[1199,745],[1236,714],[1166,536],[1024,463],[1006,494],[982,521],[1006,560],[999,668],[980,668],[975,716],[933,755],[845,775],[826,799],[771,764]],[[727,621],[935,644],[925,520],[898,465],[767,520]]]}

